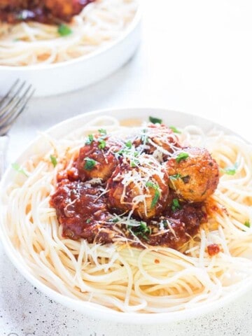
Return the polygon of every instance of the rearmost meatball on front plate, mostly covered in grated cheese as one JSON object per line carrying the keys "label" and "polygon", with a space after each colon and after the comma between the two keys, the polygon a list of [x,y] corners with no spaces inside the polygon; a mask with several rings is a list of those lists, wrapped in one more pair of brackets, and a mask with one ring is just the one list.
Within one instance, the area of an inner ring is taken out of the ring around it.
{"label": "rearmost meatball on front plate, mostly covered in grated cheese", "polygon": [[133,144],[139,151],[153,155],[159,162],[167,160],[181,148],[176,134],[165,125],[148,125],[134,139]]}

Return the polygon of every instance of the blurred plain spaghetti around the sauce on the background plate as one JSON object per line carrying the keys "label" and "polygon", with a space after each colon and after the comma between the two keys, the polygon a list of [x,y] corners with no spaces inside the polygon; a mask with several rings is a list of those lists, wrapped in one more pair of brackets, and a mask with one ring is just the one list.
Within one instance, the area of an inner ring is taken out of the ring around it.
{"label": "blurred plain spaghetti around the sauce on the background plate", "polygon": [[57,25],[0,22],[0,65],[29,66],[75,59],[120,38],[137,11],[135,0],[97,0],[67,24],[66,36]]}

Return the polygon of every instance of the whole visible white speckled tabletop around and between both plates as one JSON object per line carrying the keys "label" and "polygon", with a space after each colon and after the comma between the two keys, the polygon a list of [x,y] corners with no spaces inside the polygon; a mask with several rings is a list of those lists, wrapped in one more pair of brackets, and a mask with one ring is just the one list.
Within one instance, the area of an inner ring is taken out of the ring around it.
{"label": "whole visible white speckled tabletop around and between both plates", "polygon": [[[9,162],[38,131],[111,107],[193,113],[252,141],[251,1],[145,0],[143,9],[142,41],[130,62],[91,87],[34,99],[10,132]],[[251,292],[214,314],[169,325],[123,325],[83,316],[31,286],[0,245],[0,336],[245,336],[251,330]]]}

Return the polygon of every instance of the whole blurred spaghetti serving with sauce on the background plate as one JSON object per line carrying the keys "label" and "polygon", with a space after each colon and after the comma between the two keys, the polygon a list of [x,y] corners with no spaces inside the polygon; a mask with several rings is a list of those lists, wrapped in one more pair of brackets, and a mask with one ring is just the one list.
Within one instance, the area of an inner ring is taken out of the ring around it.
{"label": "whole blurred spaghetti serving with sauce on the background plate", "polygon": [[136,0],[0,1],[0,65],[75,59],[116,41],[132,22]]}

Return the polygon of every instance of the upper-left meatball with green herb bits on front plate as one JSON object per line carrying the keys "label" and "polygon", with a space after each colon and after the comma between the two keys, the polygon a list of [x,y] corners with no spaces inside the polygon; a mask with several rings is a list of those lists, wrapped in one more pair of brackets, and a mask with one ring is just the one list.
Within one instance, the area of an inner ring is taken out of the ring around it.
{"label": "upper-left meatball with green herb bits on front plate", "polygon": [[118,165],[118,159],[113,154],[120,148],[120,143],[109,137],[92,138],[85,146],[80,148],[76,161],[78,176],[81,181],[101,179],[105,182],[112,175]]}

